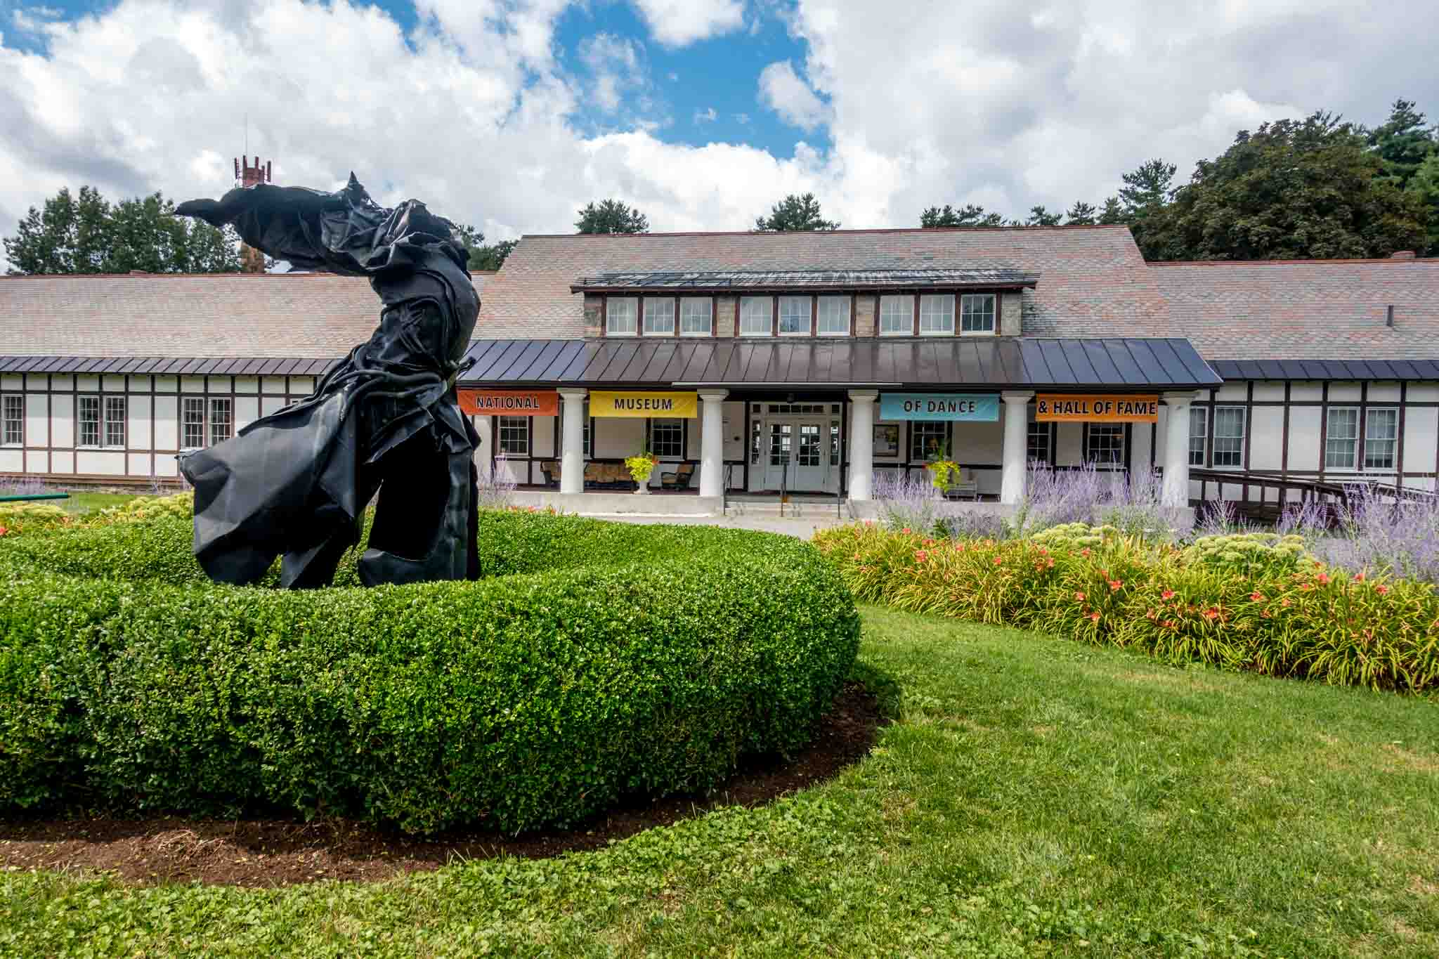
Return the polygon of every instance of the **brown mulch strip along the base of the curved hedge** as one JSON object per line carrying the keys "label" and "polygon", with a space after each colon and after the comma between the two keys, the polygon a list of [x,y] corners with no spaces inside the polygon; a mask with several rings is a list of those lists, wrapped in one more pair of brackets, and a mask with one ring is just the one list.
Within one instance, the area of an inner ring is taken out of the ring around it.
{"label": "brown mulch strip along the base of the curved hedge", "polygon": [[0,822],[0,867],[105,870],[141,886],[200,881],[269,887],[327,878],[371,881],[456,860],[594,850],[717,807],[761,805],[823,782],[868,753],[884,722],[875,697],[859,684],[848,684],[820,720],[814,742],[791,762],[757,759],[712,795],[622,807],[563,832],[417,838],[351,820],[19,820]]}

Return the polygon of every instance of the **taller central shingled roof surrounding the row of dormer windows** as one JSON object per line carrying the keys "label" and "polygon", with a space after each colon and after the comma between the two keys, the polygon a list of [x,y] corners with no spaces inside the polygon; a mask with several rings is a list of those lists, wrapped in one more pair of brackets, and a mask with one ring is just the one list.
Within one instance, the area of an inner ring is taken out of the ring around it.
{"label": "taller central shingled roof surrounding the row of dormer windows", "polygon": [[1168,336],[1164,302],[1127,227],[525,236],[485,290],[479,338],[584,335],[581,276],[665,270],[994,269],[1039,273],[1025,332]]}

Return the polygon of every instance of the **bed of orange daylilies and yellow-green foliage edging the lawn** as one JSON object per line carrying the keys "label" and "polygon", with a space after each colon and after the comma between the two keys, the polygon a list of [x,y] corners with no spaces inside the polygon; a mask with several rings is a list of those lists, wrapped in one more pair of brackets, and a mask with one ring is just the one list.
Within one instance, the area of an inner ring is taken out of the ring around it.
{"label": "bed of orange daylilies and yellow-green foliage edging the lawn", "polygon": [[1433,587],[1333,569],[1294,538],[1202,538],[1180,549],[1078,523],[1013,541],[845,526],[814,543],[865,602],[1268,676],[1439,686]]}

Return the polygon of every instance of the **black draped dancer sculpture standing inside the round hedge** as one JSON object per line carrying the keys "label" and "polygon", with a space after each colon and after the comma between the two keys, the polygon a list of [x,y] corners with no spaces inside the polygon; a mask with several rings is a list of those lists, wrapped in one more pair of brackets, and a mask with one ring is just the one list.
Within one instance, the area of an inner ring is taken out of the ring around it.
{"label": "black draped dancer sculpture standing inside the round hedge", "polygon": [[194,485],[194,555],[217,582],[328,585],[378,492],[366,585],[475,578],[479,444],[455,380],[479,315],[469,254],[417,200],[377,206],[350,174],[338,193],[259,184],[176,213],[233,224],[298,269],[368,276],[380,326],[301,403],[181,459]]}

